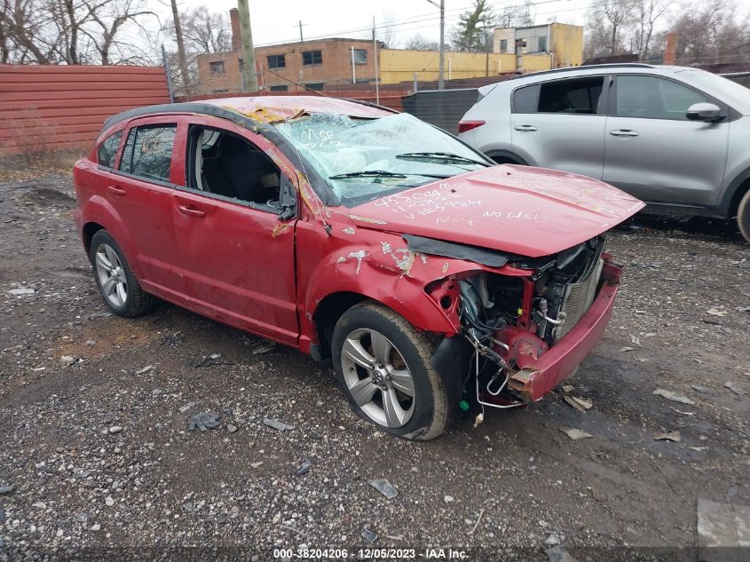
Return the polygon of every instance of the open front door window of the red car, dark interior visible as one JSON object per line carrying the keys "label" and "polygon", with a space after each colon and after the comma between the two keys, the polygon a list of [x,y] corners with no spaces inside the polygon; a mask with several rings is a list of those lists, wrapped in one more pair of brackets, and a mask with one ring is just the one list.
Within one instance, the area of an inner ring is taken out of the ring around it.
{"label": "open front door window of the red car, dark interior visible", "polygon": [[280,170],[247,139],[193,126],[187,161],[188,187],[280,210]]}

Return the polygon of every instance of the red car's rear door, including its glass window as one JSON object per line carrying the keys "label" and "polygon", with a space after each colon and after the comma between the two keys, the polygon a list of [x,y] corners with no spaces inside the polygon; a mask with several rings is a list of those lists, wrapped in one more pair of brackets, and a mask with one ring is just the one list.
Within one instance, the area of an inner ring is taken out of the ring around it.
{"label": "red car's rear door, including its glass window", "polygon": [[172,193],[184,182],[172,158],[178,118],[146,117],[128,123],[116,168],[107,176],[105,196],[130,237],[144,289],[183,302],[172,228]]}

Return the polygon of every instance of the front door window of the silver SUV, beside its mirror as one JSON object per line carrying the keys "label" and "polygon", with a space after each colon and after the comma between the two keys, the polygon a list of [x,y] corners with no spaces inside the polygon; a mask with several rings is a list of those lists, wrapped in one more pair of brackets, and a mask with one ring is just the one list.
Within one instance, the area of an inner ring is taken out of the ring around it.
{"label": "front door window of the silver SUV, beside its mirror", "polygon": [[711,101],[698,91],[658,76],[618,76],[615,115],[687,121],[688,107]]}

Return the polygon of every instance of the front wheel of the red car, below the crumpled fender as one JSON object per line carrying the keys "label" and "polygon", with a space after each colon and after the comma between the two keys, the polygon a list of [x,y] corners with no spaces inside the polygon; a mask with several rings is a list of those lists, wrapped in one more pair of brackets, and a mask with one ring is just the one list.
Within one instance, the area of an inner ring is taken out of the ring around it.
{"label": "front wheel of the red car, below the crumpled fender", "polygon": [[334,328],[336,377],[351,409],[405,439],[438,437],[454,404],[432,366],[436,345],[402,316],[377,303],[355,305]]}

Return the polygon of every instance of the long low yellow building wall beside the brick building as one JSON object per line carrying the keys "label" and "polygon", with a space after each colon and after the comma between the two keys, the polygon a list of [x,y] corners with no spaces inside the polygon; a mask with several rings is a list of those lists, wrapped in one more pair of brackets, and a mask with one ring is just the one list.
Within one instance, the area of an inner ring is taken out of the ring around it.
{"label": "long low yellow building wall beside the brick building", "polygon": [[[416,77],[420,82],[438,80],[439,51],[412,51],[409,49],[383,49],[379,51],[381,83],[410,82]],[[525,72],[549,70],[552,55],[527,54],[523,57]],[[515,72],[516,55],[497,52],[446,51],[445,78],[478,78]]]}

